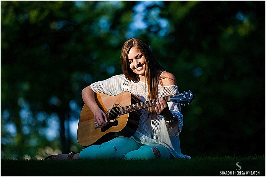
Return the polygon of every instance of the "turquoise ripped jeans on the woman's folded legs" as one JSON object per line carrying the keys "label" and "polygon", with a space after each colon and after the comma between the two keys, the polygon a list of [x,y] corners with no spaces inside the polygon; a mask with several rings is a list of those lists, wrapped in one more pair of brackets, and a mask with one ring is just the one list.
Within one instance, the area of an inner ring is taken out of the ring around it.
{"label": "turquoise ripped jeans on the woman's folded legs", "polygon": [[132,138],[119,136],[101,145],[92,145],[80,151],[80,159],[116,158],[124,160],[170,159],[171,154],[160,144],[142,145]]}

